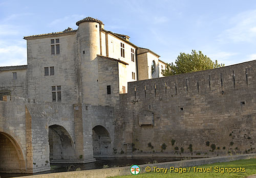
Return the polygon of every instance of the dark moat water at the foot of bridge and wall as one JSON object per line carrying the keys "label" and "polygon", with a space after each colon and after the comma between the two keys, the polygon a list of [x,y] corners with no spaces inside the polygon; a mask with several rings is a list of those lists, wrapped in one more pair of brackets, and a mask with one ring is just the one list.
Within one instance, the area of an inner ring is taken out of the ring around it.
{"label": "dark moat water at the foot of bridge and wall", "polygon": [[[0,173],[0,177],[13,177],[13,176],[25,176],[25,175],[36,175],[36,174],[46,174],[53,172],[67,172],[67,171],[75,171],[77,168],[81,170],[89,170],[89,169],[102,169],[104,165],[108,165],[109,167],[123,167],[123,166],[131,166],[133,164],[150,164],[153,162],[163,163],[170,161],[180,161],[181,158],[173,158],[173,157],[143,157],[143,158],[97,158],[96,162],[92,163],[84,163],[84,164],[51,164],[51,170],[45,172],[39,172],[34,174],[22,174],[22,173]],[[149,163],[150,162],[150,163]]]}

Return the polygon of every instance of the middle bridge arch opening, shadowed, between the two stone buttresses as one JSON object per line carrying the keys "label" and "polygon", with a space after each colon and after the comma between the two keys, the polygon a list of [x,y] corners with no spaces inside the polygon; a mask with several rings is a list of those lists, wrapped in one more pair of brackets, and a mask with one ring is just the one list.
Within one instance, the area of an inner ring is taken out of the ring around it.
{"label": "middle bridge arch opening, shadowed, between the two stone buttresses", "polygon": [[60,125],[49,126],[50,163],[70,162],[76,159],[74,142]]}

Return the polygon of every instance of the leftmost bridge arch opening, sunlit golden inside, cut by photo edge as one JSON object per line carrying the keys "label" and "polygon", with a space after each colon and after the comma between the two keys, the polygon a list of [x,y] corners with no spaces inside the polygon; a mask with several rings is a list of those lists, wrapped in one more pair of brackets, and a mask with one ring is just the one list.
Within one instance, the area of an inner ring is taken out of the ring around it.
{"label": "leftmost bridge arch opening, sunlit golden inside, cut by photo edge", "polygon": [[26,172],[26,162],[17,141],[0,132],[0,172]]}

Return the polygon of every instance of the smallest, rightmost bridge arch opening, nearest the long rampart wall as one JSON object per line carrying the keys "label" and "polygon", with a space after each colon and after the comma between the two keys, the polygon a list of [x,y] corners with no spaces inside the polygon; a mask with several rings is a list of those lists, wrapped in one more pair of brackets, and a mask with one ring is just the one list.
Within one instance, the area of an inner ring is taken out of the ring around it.
{"label": "smallest, rightmost bridge arch opening, nearest the long rampart wall", "polygon": [[111,136],[104,126],[96,125],[93,128],[93,155],[111,154]]}

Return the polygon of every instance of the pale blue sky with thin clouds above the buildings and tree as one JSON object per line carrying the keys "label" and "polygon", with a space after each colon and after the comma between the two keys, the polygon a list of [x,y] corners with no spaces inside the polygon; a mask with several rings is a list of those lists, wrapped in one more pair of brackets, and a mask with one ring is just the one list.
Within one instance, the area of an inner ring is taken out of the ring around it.
{"label": "pale blue sky with thin clouds above the buildings and tree", "polygon": [[77,29],[88,16],[168,63],[192,49],[225,65],[256,59],[255,1],[0,0],[0,66],[27,64],[24,36]]}

